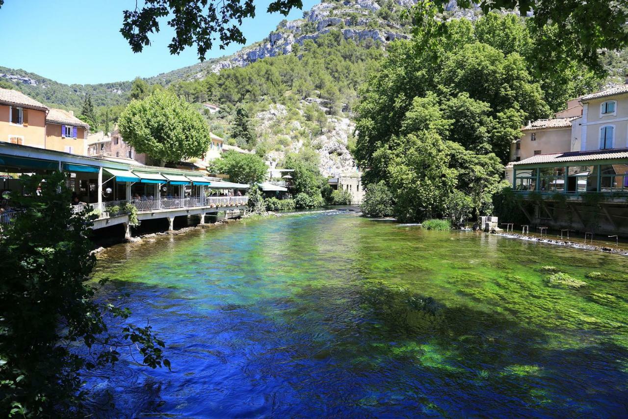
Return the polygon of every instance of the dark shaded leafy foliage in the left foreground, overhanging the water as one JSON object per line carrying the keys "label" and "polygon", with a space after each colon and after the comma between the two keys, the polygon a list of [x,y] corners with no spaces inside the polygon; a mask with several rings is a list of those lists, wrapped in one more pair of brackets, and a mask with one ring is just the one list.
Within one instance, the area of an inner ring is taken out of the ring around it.
{"label": "dark shaded leafy foliage in the left foreground, overhanging the water", "polygon": [[112,320],[130,311],[119,301],[94,299],[89,227],[95,216],[73,214],[67,176],[22,179],[24,196],[12,199],[26,211],[0,235],[0,415],[84,416],[82,377],[116,363],[122,349],[137,349],[153,368],[170,362],[151,327],[115,327]]}

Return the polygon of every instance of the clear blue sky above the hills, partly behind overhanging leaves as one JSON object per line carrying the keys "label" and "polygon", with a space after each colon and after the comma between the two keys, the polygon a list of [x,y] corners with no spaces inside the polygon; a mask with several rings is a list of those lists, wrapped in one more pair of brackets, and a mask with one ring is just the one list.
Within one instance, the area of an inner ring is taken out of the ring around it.
{"label": "clear blue sky above the hills, partly behind overhanging leaves", "polygon": [[[268,14],[271,0],[255,1],[256,18],[243,22],[247,44],[262,40],[284,16]],[[62,83],[100,83],[150,77],[198,62],[196,48],[170,55],[173,36],[168,19],[151,45],[133,53],[122,38],[122,11],[135,7],[135,0],[5,0],[0,9],[0,65],[24,69]],[[142,4],[142,1],[138,1]],[[318,1],[304,0],[303,10]],[[295,9],[289,20],[303,12]],[[234,53],[243,45],[232,43],[225,50],[215,46],[207,59]]]}

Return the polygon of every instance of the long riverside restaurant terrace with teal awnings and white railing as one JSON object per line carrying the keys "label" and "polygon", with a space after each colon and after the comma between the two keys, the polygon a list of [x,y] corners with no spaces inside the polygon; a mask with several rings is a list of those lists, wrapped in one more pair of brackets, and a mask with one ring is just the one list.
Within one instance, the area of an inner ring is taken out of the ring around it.
{"label": "long riverside restaurant terrace with teal awnings and white railing", "polygon": [[[246,208],[247,184],[225,182],[198,170],[141,165],[134,160],[85,157],[54,150],[0,142],[0,190],[3,194],[22,193],[19,174],[45,174],[61,170],[69,174],[75,212],[92,208],[99,218],[94,229],[124,225],[130,237],[129,213],[121,212],[130,203],[138,220],[165,218],[169,230],[177,216],[195,215],[205,223],[205,215],[241,211]],[[111,211],[115,209],[116,211]],[[0,223],[19,216],[12,208],[0,215]]]}

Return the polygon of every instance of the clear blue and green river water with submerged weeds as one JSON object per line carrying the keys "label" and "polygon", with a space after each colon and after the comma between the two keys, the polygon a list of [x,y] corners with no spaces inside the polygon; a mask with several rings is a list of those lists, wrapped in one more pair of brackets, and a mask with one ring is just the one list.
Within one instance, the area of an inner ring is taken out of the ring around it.
{"label": "clear blue and green river water with submerged weeds", "polygon": [[[628,416],[628,259],[325,212],[99,256],[172,371],[90,380],[111,417]],[[586,282],[549,281],[564,272]],[[592,272],[597,272],[591,274]]]}

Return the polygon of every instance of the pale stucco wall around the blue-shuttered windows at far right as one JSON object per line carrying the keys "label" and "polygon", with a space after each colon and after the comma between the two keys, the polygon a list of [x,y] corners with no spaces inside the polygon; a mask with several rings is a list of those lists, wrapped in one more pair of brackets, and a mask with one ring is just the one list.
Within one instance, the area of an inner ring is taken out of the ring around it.
{"label": "pale stucco wall around the blue-shuttered windows at far right", "polygon": [[[600,115],[600,106],[609,100],[617,102],[615,104],[615,113],[613,115]],[[628,147],[628,94],[593,99],[583,103],[583,106],[580,138],[581,140],[585,138],[585,150],[599,150],[600,128],[605,125],[615,126],[613,148]]]}

